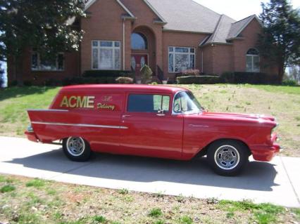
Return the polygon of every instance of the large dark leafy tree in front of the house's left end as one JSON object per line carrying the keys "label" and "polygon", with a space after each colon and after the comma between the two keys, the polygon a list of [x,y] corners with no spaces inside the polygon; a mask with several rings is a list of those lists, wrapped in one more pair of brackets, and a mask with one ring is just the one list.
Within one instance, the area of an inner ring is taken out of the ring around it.
{"label": "large dark leafy tree in front of the house's left end", "polygon": [[23,55],[34,48],[47,60],[60,51],[78,51],[82,30],[71,18],[85,16],[84,0],[0,0],[0,60],[10,58],[23,85]]}

